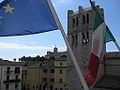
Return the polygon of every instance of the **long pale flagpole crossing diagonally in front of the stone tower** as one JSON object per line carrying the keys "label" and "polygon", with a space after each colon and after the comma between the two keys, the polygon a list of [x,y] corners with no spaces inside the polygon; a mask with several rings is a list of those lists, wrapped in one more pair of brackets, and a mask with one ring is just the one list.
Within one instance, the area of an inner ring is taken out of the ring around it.
{"label": "long pale flagpole crossing diagonally in front of the stone tower", "polygon": [[78,76],[79,76],[79,79],[80,79],[80,81],[81,81],[81,83],[82,83],[82,85],[83,85],[83,88],[84,88],[84,90],[89,90],[89,88],[88,88],[88,86],[87,86],[87,84],[86,84],[86,81],[85,81],[85,79],[84,79],[84,77],[83,77],[83,75],[82,75],[82,73],[81,73],[81,70],[80,70],[80,67],[79,67],[79,65],[78,65],[78,63],[77,63],[77,60],[76,60],[76,58],[75,58],[75,56],[74,56],[74,53],[73,53],[73,51],[72,51],[72,49],[71,49],[71,46],[70,46],[70,44],[69,44],[69,42],[68,42],[68,39],[67,39],[67,36],[66,36],[66,34],[65,34],[65,32],[64,32],[64,29],[63,29],[63,27],[62,27],[62,24],[60,23],[60,20],[59,20],[57,14],[56,14],[56,12],[55,12],[55,9],[54,9],[54,7],[53,7],[53,5],[52,5],[52,2],[51,2],[50,0],[48,0],[48,4],[49,4],[50,9],[51,9],[51,11],[52,11],[52,14],[53,14],[53,16],[54,16],[54,18],[55,18],[55,20],[56,20],[57,26],[58,26],[58,28],[60,29],[60,31],[61,31],[61,33],[62,33],[62,36],[63,36],[63,38],[64,38],[64,40],[65,40],[65,43],[66,43],[67,48],[68,48],[68,50],[69,50],[70,56],[71,56],[71,58],[72,58],[72,61],[73,61],[73,64],[74,64],[74,66],[75,66],[75,69],[76,69],[76,71],[77,71],[77,74],[78,74]]}

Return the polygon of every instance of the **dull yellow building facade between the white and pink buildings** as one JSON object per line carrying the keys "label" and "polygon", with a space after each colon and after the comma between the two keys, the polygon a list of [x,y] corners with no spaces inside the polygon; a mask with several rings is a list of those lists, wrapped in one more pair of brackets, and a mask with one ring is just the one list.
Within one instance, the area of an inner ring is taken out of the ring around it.
{"label": "dull yellow building facade between the white and pink buildings", "polygon": [[41,90],[42,69],[39,66],[24,67],[22,88],[23,90]]}

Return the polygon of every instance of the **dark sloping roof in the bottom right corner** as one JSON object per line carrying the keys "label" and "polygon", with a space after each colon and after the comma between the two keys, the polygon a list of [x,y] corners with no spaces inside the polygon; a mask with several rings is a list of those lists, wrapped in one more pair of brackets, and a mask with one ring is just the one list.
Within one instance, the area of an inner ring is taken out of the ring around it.
{"label": "dark sloping roof in the bottom right corner", "polygon": [[96,84],[97,88],[120,90],[120,76],[103,76]]}

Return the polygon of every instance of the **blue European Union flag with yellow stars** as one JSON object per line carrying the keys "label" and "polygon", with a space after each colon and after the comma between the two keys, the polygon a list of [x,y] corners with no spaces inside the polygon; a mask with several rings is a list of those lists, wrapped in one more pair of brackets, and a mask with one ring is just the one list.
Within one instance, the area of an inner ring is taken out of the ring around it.
{"label": "blue European Union flag with yellow stars", "polygon": [[4,0],[0,3],[0,36],[58,29],[47,0]]}

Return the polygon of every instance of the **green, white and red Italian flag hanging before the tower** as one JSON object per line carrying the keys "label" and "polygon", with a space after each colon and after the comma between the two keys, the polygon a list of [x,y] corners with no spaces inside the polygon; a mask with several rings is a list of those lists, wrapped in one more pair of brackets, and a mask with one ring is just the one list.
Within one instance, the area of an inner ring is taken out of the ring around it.
{"label": "green, white and red Italian flag hanging before the tower", "polygon": [[106,26],[103,17],[100,15],[91,0],[90,3],[93,10],[95,11],[95,18],[93,25],[92,47],[88,65],[88,73],[85,76],[88,87],[92,86],[96,81],[100,64],[100,57],[103,51],[104,44],[109,41],[115,41],[112,33]]}

